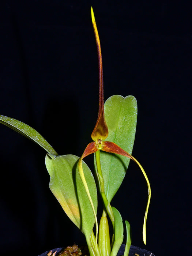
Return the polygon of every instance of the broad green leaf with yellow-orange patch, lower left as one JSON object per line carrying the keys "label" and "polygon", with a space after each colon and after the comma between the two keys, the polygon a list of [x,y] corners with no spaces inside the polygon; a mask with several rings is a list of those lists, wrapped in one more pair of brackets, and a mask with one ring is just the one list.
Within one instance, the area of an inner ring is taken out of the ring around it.
{"label": "broad green leaf with yellow-orange patch, lower left", "polygon": [[[90,240],[95,219],[91,204],[78,172],[79,157],[75,155],[55,156],[47,154],[46,168],[50,175],[50,190],[61,204],[72,222]],[[97,189],[93,174],[82,161],[84,176],[90,191],[91,199],[97,212]]]}

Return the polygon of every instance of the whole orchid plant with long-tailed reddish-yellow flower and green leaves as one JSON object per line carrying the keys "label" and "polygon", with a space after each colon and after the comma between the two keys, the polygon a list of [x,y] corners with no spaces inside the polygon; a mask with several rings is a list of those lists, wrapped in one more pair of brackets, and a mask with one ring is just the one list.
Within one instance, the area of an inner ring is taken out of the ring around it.
{"label": "whole orchid plant with long-tailed reddish-yellow flower and green leaves", "polygon": [[[72,222],[83,232],[90,256],[116,256],[123,243],[123,221],[120,212],[111,206],[111,200],[120,187],[130,159],[142,170],[148,186],[148,202],[143,223],[143,241],[146,244],[146,220],[151,197],[150,183],[140,163],[131,155],[135,139],[137,102],[135,97],[113,95],[103,102],[103,68],[101,45],[93,8],[91,18],[97,43],[99,63],[99,111],[91,134],[93,142],[79,158],[75,155],[58,155],[52,146],[29,125],[14,118],[0,115],[0,123],[33,140],[47,151],[45,164],[50,175],[50,190]],[[94,176],[83,161],[94,153]],[[103,202],[98,227],[97,192]],[[113,236],[109,234],[108,219]],[[130,225],[125,221],[127,240],[124,255],[131,246]]]}

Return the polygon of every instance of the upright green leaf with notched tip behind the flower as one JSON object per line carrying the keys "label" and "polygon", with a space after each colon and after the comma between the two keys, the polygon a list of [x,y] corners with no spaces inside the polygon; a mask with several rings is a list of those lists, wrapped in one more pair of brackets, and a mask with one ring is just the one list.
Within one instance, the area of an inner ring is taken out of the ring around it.
{"label": "upright green leaf with notched tip behind the flower", "polygon": [[[107,141],[114,142],[129,154],[132,153],[137,122],[137,102],[135,97],[113,95],[104,105],[105,120],[109,135]],[[109,202],[120,187],[130,159],[121,155],[101,151],[101,169],[105,194]],[[95,164],[96,168],[96,164]]]}

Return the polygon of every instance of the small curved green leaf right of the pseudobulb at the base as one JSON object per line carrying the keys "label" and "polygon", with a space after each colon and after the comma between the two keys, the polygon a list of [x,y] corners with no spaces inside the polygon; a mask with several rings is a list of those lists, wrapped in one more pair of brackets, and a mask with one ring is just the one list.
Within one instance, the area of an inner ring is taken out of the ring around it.
{"label": "small curved green leaf right of the pseudobulb at the base", "polygon": [[110,256],[116,256],[121,244],[123,243],[123,220],[121,218],[120,212],[112,207],[114,219],[115,219],[115,233],[114,233],[114,243]]}

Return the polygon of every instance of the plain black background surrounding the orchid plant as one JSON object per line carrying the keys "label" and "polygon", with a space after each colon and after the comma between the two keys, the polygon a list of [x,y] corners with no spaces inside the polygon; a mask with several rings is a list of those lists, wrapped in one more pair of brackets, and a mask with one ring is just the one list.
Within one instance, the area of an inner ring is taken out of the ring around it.
{"label": "plain black background surrounding the orchid plant", "polygon": [[[98,111],[93,5],[101,40],[104,99],[134,95],[133,156],[112,201],[132,227],[132,244],[155,255],[191,251],[190,4],[167,1],[3,1],[0,114],[29,124],[59,154],[82,155]],[[45,151],[0,125],[0,251],[35,256],[84,243],[49,190]],[[91,156],[85,159],[91,162]],[[90,165],[91,166],[91,165]]]}

